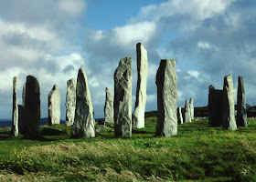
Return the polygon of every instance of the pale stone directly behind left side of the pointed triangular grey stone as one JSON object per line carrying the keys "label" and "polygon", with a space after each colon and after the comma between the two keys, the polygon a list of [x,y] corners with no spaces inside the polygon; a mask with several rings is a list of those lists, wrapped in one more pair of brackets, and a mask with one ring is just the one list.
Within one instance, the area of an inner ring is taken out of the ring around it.
{"label": "pale stone directly behind left side of the pointed triangular grey stone", "polygon": [[67,95],[66,95],[66,125],[71,126],[74,123],[76,111],[76,85],[77,80],[71,78],[67,81]]}

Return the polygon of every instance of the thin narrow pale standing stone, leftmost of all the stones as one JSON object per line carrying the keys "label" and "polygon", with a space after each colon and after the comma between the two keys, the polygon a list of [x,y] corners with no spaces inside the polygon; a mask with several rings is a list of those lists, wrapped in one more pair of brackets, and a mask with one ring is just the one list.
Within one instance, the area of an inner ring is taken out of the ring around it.
{"label": "thin narrow pale standing stone, leftmost of all the stones", "polygon": [[13,79],[12,134],[13,136],[18,136],[18,107],[17,107],[17,98],[16,98],[16,76]]}

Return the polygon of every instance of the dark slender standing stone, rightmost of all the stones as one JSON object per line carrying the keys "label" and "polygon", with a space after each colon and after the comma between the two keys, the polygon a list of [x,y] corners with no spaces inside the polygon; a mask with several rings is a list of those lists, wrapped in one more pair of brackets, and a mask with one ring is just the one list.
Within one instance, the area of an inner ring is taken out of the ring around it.
{"label": "dark slender standing stone, rightmost of all the stones", "polygon": [[238,98],[237,98],[237,125],[238,126],[247,126],[247,113],[246,113],[246,97],[244,91],[244,83],[242,76],[239,76],[238,80]]}

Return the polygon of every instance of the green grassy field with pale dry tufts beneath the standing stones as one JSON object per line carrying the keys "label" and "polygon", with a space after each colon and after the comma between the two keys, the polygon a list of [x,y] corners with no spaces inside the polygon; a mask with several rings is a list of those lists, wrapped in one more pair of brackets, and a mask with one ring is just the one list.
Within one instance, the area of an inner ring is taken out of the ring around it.
{"label": "green grassy field with pale dry tufts beneath the standing stones", "polygon": [[[25,140],[0,130],[0,181],[256,181],[256,119],[231,132],[195,118],[178,135],[155,137],[155,117],[131,138],[97,126],[91,139]],[[43,128],[44,126],[42,126]],[[101,132],[100,132],[101,131]]]}

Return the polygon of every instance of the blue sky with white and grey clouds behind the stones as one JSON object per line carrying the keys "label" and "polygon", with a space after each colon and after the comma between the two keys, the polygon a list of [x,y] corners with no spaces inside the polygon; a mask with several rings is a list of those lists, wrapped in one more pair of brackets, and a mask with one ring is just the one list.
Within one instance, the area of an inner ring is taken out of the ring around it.
{"label": "blue sky with white and grey clouds behind the stones", "polygon": [[247,103],[255,102],[255,0],[8,0],[0,1],[0,118],[12,117],[13,77],[18,104],[28,75],[40,84],[41,117],[48,93],[59,87],[66,116],[67,81],[83,67],[96,118],[104,116],[105,87],[121,58],[133,59],[136,44],[148,53],[146,111],[157,110],[155,75],[161,59],[176,59],[177,106],[194,98],[208,105],[208,86],[223,87],[232,75],[235,99],[243,76]]}

